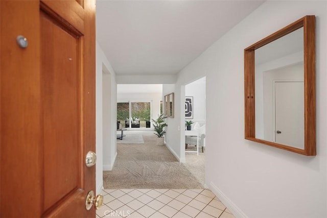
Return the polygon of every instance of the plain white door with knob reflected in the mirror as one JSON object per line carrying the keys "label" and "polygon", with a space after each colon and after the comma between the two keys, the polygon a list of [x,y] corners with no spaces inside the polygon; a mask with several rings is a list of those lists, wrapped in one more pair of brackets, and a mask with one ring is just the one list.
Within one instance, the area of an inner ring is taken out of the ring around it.
{"label": "plain white door with knob reflected in the mirror", "polygon": [[304,83],[275,82],[275,141],[304,149]]}

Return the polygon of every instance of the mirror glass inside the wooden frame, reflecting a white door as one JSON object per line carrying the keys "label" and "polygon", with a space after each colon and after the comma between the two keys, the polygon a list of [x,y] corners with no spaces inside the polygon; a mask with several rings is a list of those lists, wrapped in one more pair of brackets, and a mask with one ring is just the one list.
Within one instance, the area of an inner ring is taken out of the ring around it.
{"label": "mirror glass inside the wooden frame, reflecting a white door", "polygon": [[303,27],[255,50],[255,138],[304,149]]}

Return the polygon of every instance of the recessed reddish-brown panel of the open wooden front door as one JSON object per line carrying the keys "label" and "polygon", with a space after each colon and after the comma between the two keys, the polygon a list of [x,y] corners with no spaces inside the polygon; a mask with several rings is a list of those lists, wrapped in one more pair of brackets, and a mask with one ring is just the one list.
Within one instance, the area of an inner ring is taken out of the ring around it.
{"label": "recessed reddish-brown panel of the open wooden front door", "polygon": [[[44,209],[78,188],[80,156],[79,42],[41,14]],[[64,169],[64,170],[63,170]],[[63,184],[56,187],[56,184]]]}

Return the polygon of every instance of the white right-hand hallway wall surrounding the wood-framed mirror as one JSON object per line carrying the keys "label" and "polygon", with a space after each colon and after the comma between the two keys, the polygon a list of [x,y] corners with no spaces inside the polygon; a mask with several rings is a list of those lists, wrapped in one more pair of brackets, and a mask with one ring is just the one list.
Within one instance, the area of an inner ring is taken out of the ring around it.
{"label": "white right-hand hallway wall surrounding the wood-framed mirror", "polygon": [[[237,217],[327,217],[326,11],[326,1],[265,2],[178,75],[176,102],[189,78],[206,76],[206,143],[212,146],[205,151],[205,181]],[[307,157],[244,139],[244,49],[312,14],[317,155]],[[183,103],[175,106],[180,122],[169,125],[174,132],[167,137],[182,141]]]}

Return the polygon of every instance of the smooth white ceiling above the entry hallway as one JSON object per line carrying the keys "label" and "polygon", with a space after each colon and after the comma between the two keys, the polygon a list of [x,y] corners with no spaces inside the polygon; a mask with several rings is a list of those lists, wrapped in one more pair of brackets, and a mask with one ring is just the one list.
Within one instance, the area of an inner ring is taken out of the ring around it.
{"label": "smooth white ceiling above the entry hallway", "polygon": [[174,75],[262,3],[98,0],[97,41],[116,75]]}

